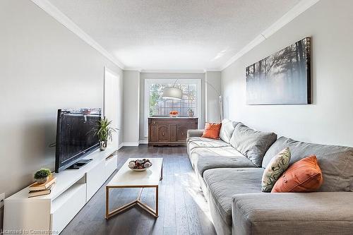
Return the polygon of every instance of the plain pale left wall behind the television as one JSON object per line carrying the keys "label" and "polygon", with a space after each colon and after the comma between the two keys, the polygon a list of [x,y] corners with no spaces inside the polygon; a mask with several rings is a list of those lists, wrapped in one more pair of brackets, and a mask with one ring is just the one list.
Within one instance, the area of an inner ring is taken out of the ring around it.
{"label": "plain pale left wall behind the television", "polygon": [[104,66],[122,72],[32,1],[0,1],[0,28],[0,193],[9,196],[54,169],[57,109],[102,107]]}

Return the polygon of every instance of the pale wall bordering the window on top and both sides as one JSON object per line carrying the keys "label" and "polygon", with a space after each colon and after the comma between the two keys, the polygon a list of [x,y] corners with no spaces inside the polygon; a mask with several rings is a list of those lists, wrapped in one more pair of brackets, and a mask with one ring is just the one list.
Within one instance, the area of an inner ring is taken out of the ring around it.
{"label": "pale wall bordering the window on top and both sides", "polygon": [[165,78],[165,79],[201,79],[201,117],[198,119],[198,126],[205,126],[205,73],[141,73],[140,76],[140,140],[147,141],[144,135],[145,119],[145,79]]}

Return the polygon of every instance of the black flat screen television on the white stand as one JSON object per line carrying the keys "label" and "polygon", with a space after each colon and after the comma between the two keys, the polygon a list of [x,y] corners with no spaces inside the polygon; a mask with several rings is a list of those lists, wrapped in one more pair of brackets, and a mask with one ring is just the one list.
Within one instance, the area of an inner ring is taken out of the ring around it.
{"label": "black flat screen television on the white stand", "polygon": [[92,131],[101,118],[101,109],[59,109],[56,125],[55,172],[74,167],[99,147]]}

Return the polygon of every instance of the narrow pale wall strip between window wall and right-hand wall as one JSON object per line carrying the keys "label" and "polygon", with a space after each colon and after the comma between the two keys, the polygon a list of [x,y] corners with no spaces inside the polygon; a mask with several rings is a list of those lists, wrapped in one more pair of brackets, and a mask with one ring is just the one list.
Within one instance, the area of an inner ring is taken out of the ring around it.
{"label": "narrow pale wall strip between window wall and right-hand wall", "polygon": [[221,72],[205,73],[205,121],[220,122]]}

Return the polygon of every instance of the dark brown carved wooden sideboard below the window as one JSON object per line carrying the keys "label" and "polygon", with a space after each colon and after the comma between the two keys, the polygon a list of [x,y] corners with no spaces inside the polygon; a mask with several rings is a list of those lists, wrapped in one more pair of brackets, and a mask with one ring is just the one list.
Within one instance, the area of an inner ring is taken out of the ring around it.
{"label": "dark brown carved wooden sideboard below the window", "polygon": [[198,128],[198,118],[152,116],[148,118],[148,145],[186,145],[186,133]]}

